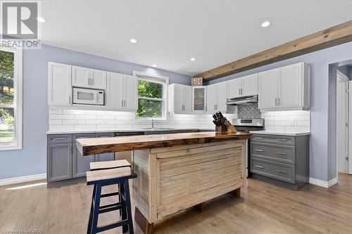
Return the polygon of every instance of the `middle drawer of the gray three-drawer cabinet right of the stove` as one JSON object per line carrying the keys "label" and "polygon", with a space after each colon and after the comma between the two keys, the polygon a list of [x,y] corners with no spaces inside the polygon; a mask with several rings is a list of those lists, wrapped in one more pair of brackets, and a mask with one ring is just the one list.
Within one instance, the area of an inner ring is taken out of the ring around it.
{"label": "middle drawer of the gray three-drawer cabinet right of the stove", "polygon": [[251,143],[251,157],[262,157],[267,160],[294,164],[294,147]]}

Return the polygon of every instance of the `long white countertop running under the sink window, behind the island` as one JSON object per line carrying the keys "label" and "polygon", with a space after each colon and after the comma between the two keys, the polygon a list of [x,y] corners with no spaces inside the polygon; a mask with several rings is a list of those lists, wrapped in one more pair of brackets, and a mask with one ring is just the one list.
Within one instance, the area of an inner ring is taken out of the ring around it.
{"label": "long white countertop running under the sink window, behind the island", "polygon": [[126,131],[215,131],[215,129],[109,129],[109,130],[68,130],[68,131],[46,131],[50,134],[87,134],[87,133],[105,133],[105,132],[126,132]]}

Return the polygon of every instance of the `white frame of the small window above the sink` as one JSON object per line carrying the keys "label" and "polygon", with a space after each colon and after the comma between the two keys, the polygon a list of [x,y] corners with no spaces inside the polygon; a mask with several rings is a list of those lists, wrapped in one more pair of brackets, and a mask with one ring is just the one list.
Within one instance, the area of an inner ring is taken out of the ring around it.
{"label": "white frame of the small window above the sink", "polygon": [[[161,100],[163,110],[162,110],[162,117],[161,118],[153,118],[153,117],[138,117],[137,116],[137,111],[134,115],[134,120],[139,121],[139,122],[149,122],[152,119],[157,120],[157,121],[167,121],[168,120],[168,86],[169,86],[169,77],[162,76],[160,74],[153,74],[153,73],[148,73],[148,72],[138,72],[138,71],[133,71],[133,76],[136,77],[137,80],[137,106],[138,106],[138,100],[139,98],[145,99],[145,100]],[[162,84],[163,85],[163,98],[145,98],[145,97],[139,97],[138,96],[138,81],[139,80],[144,80],[146,82],[153,82],[157,84]]]}

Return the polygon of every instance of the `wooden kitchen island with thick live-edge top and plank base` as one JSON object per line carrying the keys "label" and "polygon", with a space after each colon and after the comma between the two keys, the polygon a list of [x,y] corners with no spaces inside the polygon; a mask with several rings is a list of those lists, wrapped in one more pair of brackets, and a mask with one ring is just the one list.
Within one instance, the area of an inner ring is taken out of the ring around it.
{"label": "wooden kitchen island with thick live-edge top and plank base", "polygon": [[135,217],[145,233],[153,223],[246,184],[246,139],[251,134],[186,134],[80,138],[83,156],[133,150]]}

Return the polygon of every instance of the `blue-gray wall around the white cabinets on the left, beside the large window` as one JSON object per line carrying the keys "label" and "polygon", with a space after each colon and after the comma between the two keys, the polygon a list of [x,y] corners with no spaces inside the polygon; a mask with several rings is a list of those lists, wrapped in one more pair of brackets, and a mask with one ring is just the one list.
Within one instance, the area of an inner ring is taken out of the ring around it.
{"label": "blue-gray wall around the white cabinets on the left, beside the large window", "polygon": [[0,151],[0,179],[46,173],[48,61],[132,74],[132,70],[161,74],[170,84],[191,84],[191,77],[142,65],[92,56],[54,46],[23,51],[23,149]]}

